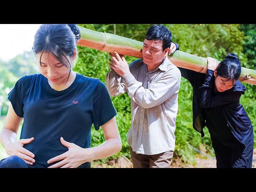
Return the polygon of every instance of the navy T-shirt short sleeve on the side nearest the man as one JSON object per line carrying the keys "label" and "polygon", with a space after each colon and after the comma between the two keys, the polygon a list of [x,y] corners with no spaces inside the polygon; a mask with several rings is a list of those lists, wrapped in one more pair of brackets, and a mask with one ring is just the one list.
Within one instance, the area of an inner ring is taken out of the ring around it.
{"label": "navy T-shirt short sleeve on the side nearest the man", "polygon": [[117,114],[108,90],[101,81],[98,82],[98,85],[93,93],[92,103],[92,121],[95,130],[99,130],[100,126],[104,125]]}

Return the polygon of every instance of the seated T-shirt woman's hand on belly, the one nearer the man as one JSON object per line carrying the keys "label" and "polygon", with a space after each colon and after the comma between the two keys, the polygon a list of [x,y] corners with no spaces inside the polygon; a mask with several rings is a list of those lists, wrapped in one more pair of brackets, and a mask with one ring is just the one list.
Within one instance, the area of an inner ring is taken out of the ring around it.
{"label": "seated T-shirt woman's hand on belly, the one nearer the man", "polygon": [[90,161],[90,148],[81,148],[74,143],[65,141],[62,137],[60,142],[68,148],[68,151],[49,159],[47,161],[48,164],[61,161],[48,168],[77,168],[83,163]]}

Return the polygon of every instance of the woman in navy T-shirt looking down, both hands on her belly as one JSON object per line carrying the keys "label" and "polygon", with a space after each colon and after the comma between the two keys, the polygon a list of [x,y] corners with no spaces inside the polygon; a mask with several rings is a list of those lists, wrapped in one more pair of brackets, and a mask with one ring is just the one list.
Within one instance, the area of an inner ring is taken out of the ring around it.
{"label": "woman in navy T-shirt looking down, both hands on her belly", "polygon": [[[80,37],[74,24],[43,24],[36,32],[32,50],[40,74],[20,78],[9,93],[0,142],[10,156],[1,168],[90,168],[90,161],[121,150],[106,86],[72,71]],[[105,142],[90,148],[92,124],[102,127]]]}

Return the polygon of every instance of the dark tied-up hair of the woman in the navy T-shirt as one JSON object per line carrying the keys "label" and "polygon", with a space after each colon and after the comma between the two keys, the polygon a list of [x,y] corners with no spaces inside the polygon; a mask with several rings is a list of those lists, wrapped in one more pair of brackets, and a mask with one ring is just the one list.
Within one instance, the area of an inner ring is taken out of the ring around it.
{"label": "dark tied-up hair of the woman in the navy T-shirt", "polygon": [[71,64],[66,56],[74,56],[74,49],[80,38],[80,30],[76,24],[42,24],[35,34],[32,51],[35,55],[38,52],[52,53],[57,60],[69,68],[69,78]]}

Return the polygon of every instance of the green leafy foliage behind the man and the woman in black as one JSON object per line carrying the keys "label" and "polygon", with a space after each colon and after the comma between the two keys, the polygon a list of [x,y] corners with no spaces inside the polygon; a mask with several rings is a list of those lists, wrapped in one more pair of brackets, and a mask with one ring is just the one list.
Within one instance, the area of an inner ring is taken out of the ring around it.
{"label": "green leafy foliage behind the man and the woman in black", "polygon": [[[143,41],[148,28],[152,26],[152,24],[81,24],[80,26],[99,32],[114,33],[115,31],[117,35]],[[253,68],[252,63],[247,60],[247,53],[243,52],[244,34],[247,33],[241,31],[238,24],[166,24],[165,26],[171,30],[173,41],[180,45],[180,50],[183,52],[202,57],[210,56],[219,61],[221,61],[228,52],[232,52],[238,54],[243,66]],[[250,28],[250,30],[253,29],[253,27]],[[255,37],[256,34],[254,34],[254,40]],[[255,48],[255,44],[254,46],[250,45],[250,47]],[[105,82],[105,75],[109,69],[108,53],[82,46],[78,46],[78,51],[79,59],[74,70],[85,76],[99,78],[102,82]],[[251,55],[255,57],[255,52]],[[126,56],[128,63],[135,59],[136,58]],[[248,84],[246,84],[246,87],[248,90],[246,95],[242,96],[241,103],[251,118],[253,126],[255,126],[256,108],[253,106],[256,106],[256,96],[255,92],[252,92],[252,87],[255,86],[248,86]],[[175,153],[184,162],[194,162],[194,157],[197,154],[197,152],[188,146],[188,143],[196,148],[200,148],[203,145],[209,155],[214,156],[214,150],[212,149],[210,134],[207,128],[204,128],[205,136],[201,138],[200,133],[196,132],[192,127],[192,95],[191,85],[186,79],[182,78],[178,98],[179,110],[176,119]],[[128,129],[131,124],[130,98],[127,94],[122,94],[112,98],[112,102],[118,112],[116,121],[123,147],[121,152],[108,159],[116,159],[118,156],[122,155],[130,157],[129,146],[126,141]],[[104,142],[102,130],[95,131],[93,129],[92,146],[97,146],[102,142]],[[101,162],[105,161],[106,159]]]}

